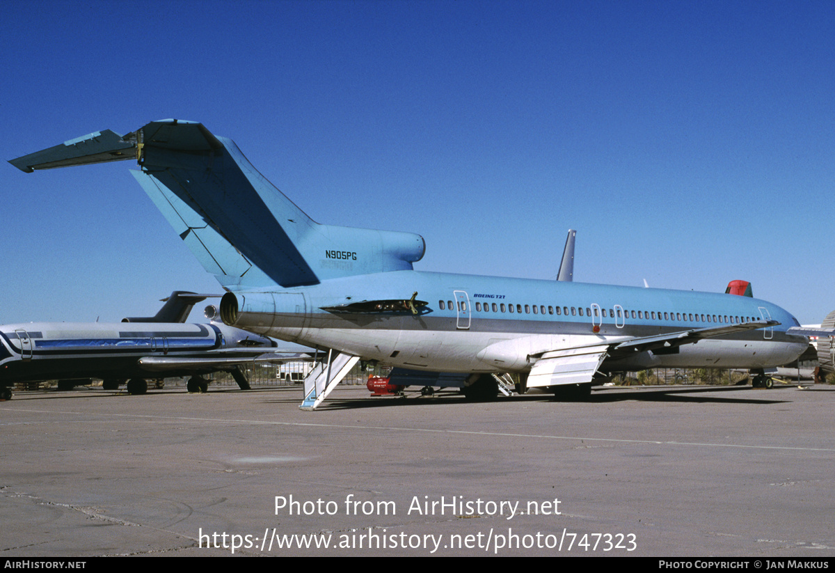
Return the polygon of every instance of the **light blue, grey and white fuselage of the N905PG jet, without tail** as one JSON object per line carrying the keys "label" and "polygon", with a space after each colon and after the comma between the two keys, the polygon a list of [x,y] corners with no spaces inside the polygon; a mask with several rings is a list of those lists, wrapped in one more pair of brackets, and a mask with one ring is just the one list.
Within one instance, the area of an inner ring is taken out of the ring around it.
{"label": "light blue, grey and white fuselage of the N905PG jet, without tail", "polygon": [[[417,316],[321,310],[412,292],[428,302]],[[780,326],[735,332],[668,353],[636,352],[608,360],[604,369],[768,368],[791,362],[807,347],[806,337],[786,334],[797,320],[781,307],[711,292],[393,271],[243,292],[239,300],[236,326],[402,368],[443,372],[522,373],[531,357],[554,348],[763,318]]]}

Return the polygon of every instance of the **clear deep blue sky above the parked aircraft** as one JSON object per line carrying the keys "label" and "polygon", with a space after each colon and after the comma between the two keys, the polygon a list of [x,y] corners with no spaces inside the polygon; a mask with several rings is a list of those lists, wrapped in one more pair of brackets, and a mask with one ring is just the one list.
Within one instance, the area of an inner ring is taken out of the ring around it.
{"label": "clear deep blue sky above the parked aircraft", "polygon": [[[3,3],[0,157],[200,121],[416,268],[835,308],[835,3]],[[0,323],[221,292],[125,161],[4,163]],[[197,312],[192,318],[199,317]]]}

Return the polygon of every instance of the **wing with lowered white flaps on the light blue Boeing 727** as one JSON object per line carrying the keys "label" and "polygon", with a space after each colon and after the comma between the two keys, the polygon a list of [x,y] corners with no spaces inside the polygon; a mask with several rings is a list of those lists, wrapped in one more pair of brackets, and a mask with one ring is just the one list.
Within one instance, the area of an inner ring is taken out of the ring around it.
{"label": "wing with lowered white flaps on the light blue Boeing 727", "polygon": [[694,328],[651,337],[630,338],[621,342],[559,348],[542,352],[528,375],[528,388],[590,383],[607,357],[623,358],[635,352],[646,352],[684,344],[695,344],[705,338],[721,337],[732,332],[777,326],[777,321],[751,321],[723,327]]}

